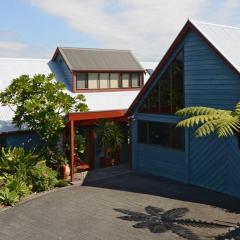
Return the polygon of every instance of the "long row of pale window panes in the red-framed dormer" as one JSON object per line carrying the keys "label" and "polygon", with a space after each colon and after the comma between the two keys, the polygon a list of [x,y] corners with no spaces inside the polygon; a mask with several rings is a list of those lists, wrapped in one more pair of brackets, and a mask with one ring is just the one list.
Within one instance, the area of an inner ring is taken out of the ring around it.
{"label": "long row of pale window panes in the red-framed dormer", "polygon": [[140,73],[77,73],[76,89],[138,88]]}

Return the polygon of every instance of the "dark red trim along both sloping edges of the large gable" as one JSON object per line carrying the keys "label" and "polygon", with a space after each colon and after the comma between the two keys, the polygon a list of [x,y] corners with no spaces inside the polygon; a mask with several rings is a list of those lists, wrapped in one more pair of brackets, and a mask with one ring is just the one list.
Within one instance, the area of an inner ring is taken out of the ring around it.
{"label": "dark red trim along both sloping edges of the large gable", "polygon": [[176,47],[179,45],[179,43],[183,40],[183,38],[186,36],[187,32],[189,30],[193,30],[195,32],[197,32],[200,37],[202,37],[202,39],[209,45],[210,48],[212,48],[215,53],[220,56],[223,61],[229,65],[231,67],[231,69],[236,72],[238,75],[240,74],[240,72],[231,64],[231,62],[228,61],[228,59],[197,29],[197,27],[195,27],[189,20],[186,22],[186,24],[184,25],[184,27],[182,28],[182,30],[180,31],[180,33],[178,34],[178,36],[176,37],[176,39],[173,41],[172,45],[170,46],[170,48],[168,49],[168,51],[166,52],[166,54],[163,56],[162,60],[160,61],[160,63],[158,64],[158,66],[156,67],[155,71],[153,72],[153,74],[150,76],[149,80],[147,81],[147,83],[143,86],[142,90],[140,91],[140,93],[137,95],[137,97],[134,99],[133,103],[131,104],[131,106],[129,107],[129,109],[126,112],[126,116],[130,116],[133,112],[133,110],[135,109],[136,105],[139,103],[139,101],[141,100],[141,98],[144,96],[145,92],[147,91],[147,89],[151,86],[151,84],[155,81],[156,77],[158,76],[158,74],[163,70],[163,68],[165,67],[165,65],[167,64],[167,62],[169,61],[169,58],[171,57],[171,55],[173,54],[173,52],[175,51]]}

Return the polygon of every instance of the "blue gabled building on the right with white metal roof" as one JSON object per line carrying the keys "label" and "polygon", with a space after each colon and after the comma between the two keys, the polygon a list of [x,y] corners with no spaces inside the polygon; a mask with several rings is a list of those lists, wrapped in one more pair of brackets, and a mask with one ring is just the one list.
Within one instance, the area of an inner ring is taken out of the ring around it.
{"label": "blue gabled building on the right with white metal roof", "polygon": [[176,128],[183,107],[234,109],[240,100],[240,28],[188,20],[128,110],[132,166],[240,197],[236,137]]}

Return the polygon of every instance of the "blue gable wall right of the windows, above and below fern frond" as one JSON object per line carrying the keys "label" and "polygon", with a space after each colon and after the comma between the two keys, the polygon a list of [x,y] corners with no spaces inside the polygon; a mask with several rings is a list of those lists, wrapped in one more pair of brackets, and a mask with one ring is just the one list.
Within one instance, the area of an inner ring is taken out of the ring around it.
{"label": "blue gable wall right of the windows, above and below fern frond", "polygon": [[[194,32],[185,38],[186,106],[234,109],[240,97],[240,78]],[[235,137],[216,136],[189,141],[190,182],[240,197],[240,150]]]}

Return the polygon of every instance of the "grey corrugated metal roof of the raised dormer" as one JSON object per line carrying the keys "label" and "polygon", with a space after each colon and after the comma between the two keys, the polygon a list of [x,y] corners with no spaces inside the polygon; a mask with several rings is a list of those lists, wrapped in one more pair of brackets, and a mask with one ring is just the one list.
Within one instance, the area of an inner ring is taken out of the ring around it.
{"label": "grey corrugated metal roof of the raised dormer", "polygon": [[70,70],[144,71],[128,50],[58,48]]}

